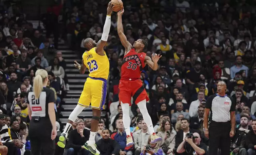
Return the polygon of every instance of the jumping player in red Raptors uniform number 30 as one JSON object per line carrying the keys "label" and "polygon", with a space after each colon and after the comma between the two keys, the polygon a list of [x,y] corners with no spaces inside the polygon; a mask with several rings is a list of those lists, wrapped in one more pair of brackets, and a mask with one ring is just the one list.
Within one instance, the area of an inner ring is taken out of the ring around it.
{"label": "jumping player in red Raptors uniform number 30", "polygon": [[126,146],[134,144],[130,135],[130,116],[129,106],[131,105],[131,97],[140,108],[140,112],[143,115],[143,119],[147,124],[149,132],[151,134],[151,144],[155,144],[162,140],[161,137],[155,134],[153,124],[149,113],[147,112],[146,102],[149,100],[147,92],[145,91],[142,81],[140,79],[140,73],[146,64],[153,70],[157,70],[157,61],[161,56],[154,54],[152,60],[150,57],[143,53],[143,49],[146,49],[147,43],[143,39],[138,39],[131,45],[126,36],[122,26],[122,14],[124,9],[117,13],[117,31],[122,45],[125,47],[124,59],[121,66],[121,79],[119,81],[119,100],[123,110],[123,122],[126,132]]}

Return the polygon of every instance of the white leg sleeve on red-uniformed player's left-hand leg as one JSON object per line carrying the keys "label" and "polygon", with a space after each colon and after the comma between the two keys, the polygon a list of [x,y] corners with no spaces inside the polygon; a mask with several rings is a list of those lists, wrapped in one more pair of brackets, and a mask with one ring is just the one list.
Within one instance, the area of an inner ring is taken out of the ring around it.
{"label": "white leg sleeve on red-uniformed player's left-hand leg", "polygon": [[124,122],[124,130],[126,135],[131,136],[131,131],[130,131],[130,108],[129,108],[129,104],[128,103],[122,103],[121,102],[121,107],[122,107],[122,111],[123,111],[123,122]]}

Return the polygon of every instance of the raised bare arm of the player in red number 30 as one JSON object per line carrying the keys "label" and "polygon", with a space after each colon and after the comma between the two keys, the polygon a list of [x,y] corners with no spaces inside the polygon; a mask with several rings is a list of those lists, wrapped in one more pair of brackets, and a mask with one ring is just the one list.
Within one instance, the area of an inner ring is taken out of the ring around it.
{"label": "raised bare arm of the player in red number 30", "polygon": [[130,51],[130,49],[132,49],[132,44],[128,42],[126,36],[124,35],[124,28],[123,28],[123,24],[122,24],[122,14],[123,13],[124,13],[124,9],[122,9],[121,11],[119,11],[117,13],[117,32],[118,32],[120,41],[125,48],[124,55],[126,55],[126,53],[128,51]]}

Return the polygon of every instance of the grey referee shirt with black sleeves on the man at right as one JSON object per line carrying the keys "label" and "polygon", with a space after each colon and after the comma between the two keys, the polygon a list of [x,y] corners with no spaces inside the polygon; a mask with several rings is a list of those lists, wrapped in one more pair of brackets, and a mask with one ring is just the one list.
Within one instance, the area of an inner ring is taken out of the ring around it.
{"label": "grey referee shirt with black sleeves on the man at right", "polygon": [[236,104],[229,95],[219,96],[214,94],[206,101],[206,108],[210,109],[209,121],[227,122],[230,121],[230,112],[236,110]]}

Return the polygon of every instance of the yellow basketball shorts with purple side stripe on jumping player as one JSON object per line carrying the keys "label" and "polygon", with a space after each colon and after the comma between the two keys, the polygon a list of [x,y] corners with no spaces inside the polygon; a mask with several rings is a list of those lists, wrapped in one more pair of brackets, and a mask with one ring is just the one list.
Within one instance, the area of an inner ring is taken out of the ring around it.
{"label": "yellow basketball shorts with purple side stripe on jumping player", "polygon": [[103,78],[88,77],[84,83],[79,98],[80,106],[103,110],[107,96],[107,80]]}

